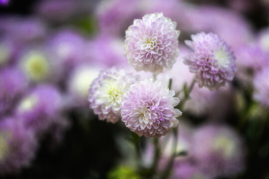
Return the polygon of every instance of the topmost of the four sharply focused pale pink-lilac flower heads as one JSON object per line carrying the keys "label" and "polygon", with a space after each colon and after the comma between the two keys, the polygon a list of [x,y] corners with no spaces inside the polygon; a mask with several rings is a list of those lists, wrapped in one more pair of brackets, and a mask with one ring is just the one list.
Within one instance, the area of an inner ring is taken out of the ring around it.
{"label": "topmost of the four sharply focused pale pink-lilac flower heads", "polygon": [[178,56],[176,22],[162,13],[146,14],[134,19],[126,30],[124,44],[128,62],[135,70],[160,73],[163,68],[171,69]]}

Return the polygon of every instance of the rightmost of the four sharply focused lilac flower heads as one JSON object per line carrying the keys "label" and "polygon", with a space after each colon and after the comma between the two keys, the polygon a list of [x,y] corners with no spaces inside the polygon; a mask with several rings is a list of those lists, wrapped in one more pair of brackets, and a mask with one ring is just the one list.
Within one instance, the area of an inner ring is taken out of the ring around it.
{"label": "rightmost of the four sharply focused lilac flower heads", "polygon": [[228,85],[237,70],[235,55],[230,46],[213,33],[198,33],[191,36],[185,43],[193,52],[184,59],[189,65],[190,72],[196,73],[195,80],[199,87],[210,90]]}

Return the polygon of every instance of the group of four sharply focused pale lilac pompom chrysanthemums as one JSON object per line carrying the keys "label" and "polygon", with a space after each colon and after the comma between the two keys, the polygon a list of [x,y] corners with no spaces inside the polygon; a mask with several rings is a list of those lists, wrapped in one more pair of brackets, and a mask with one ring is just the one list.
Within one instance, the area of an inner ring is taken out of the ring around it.
{"label": "group of four sharply focused pale lilac pompom chrysanthemums", "polygon": [[[135,70],[158,74],[170,69],[178,56],[176,22],[163,13],[146,14],[135,19],[126,30],[125,54]],[[195,73],[199,87],[211,90],[227,86],[237,70],[230,46],[213,33],[198,33],[186,44],[193,49],[184,63]],[[175,79],[176,80],[176,79]],[[138,81],[124,70],[102,71],[90,88],[89,102],[101,120],[125,125],[138,136],[160,137],[177,127],[182,112],[174,90],[160,80]]]}

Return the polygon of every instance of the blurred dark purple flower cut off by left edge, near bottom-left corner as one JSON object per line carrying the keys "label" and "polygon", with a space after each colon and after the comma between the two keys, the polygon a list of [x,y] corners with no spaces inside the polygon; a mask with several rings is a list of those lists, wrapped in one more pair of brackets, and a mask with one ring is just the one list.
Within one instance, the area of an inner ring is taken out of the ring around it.
{"label": "blurred dark purple flower cut off by left edge, near bottom-left corner", "polygon": [[29,166],[37,147],[31,130],[14,118],[0,121],[0,174],[18,172]]}

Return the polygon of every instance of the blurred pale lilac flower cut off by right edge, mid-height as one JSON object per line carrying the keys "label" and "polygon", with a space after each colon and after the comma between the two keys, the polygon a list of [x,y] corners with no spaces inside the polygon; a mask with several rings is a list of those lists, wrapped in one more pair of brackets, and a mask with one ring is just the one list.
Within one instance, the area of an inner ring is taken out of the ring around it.
{"label": "blurred pale lilac flower cut off by right edge, mid-height", "polygon": [[257,73],[254,78],[254,98],[269,106],[269,66]]}

